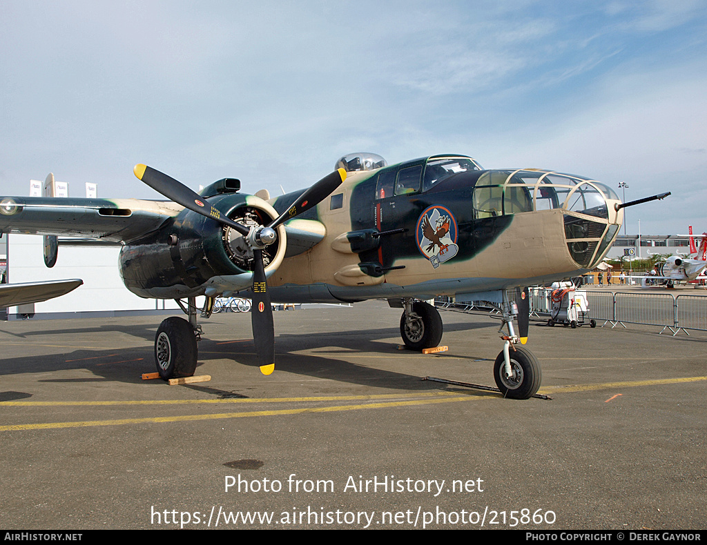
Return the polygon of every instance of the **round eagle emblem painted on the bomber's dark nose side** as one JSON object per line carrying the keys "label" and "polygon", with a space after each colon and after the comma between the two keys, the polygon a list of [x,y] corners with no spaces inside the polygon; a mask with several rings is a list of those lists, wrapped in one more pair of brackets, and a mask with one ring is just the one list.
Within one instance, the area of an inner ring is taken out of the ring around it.
{"label": "round eagle emblem painted on the bomber's dark nose side", "polygon": [[459,252],[457,221],[444,206],[430,206],[417,221],[417,247],[436,269]]}

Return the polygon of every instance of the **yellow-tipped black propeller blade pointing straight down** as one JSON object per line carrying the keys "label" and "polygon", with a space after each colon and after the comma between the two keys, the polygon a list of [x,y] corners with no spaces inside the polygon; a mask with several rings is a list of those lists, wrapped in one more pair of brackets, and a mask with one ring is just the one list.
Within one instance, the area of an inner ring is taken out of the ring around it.
{"label": "yellow-tipped black propeller blade pointing straight down", "polygon": [[253,305],[250,309],[250,325],[260,372],[269,375],[275,370],[275,327],[263,265],[263,251],[254,248],[253,258]]}

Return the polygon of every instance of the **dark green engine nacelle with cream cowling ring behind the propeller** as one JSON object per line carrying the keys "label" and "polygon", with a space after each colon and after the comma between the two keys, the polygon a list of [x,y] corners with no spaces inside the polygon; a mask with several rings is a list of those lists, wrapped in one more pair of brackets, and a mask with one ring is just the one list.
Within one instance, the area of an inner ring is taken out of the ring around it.
{"label": "dark green engine nacelle with cream cowling ring behind the propeller", "polygon": [[[247,225],[267,225],[279,216],[254,195],[223,194],[208,199],[224,216]],[[286,233],[263,250],[269,276],[285,257]],[[119,258],[125,286],[141,297],[174,299],[236,291],[252,284],[252,249],[240,233],[188,209],[148,237],[123,247]]]}

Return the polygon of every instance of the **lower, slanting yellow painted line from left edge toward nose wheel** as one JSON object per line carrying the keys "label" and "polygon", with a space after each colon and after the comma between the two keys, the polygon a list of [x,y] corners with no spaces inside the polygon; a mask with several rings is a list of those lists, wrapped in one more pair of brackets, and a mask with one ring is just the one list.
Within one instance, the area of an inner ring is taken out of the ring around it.
{"label": "lower, slanting yellow painted line from left edge toward nose wheel", "polygon": [[184,416],[156,416],[152,418],[121,418],[119,420],[91,420],[83,422],[52,422],[37,424],[16,424],[14,426],[0,426],[0,431],[18,430],[47,430],[59,428],[86,428],[90,426],[124,426],[126,424],[141,423],[163,423],[163,422],[187,422],[201,420],[218,420],[221,418],[247,418],[250,416],[281,416],[285,414],[303,413],[332,413],[339,411],[358,411],[360,409],[384,409],[387,407],[402,407],[413,405],[428,405],[438,403],[465,402],[477,399],[470,395],[461,397],[445,397],[443,399],[417,399],[415,401],[383,402],[362,405],[339,405],[330,407],[303,408],[303,409],[281,409],[278,411],[247,411],[240,413],[221,414],[194,414]]}

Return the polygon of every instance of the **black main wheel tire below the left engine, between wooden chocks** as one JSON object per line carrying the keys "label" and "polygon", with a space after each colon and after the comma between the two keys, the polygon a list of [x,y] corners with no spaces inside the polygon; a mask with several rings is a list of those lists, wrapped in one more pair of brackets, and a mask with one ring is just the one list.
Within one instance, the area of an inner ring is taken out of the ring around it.
{"label": "black main wheel tire below the left engine, between wooden chocks", "polygon": [[160,377],[191,377],[197,370],[197,337],[194,328],[178,317],[163,320],[155,336],[155,363]]}

